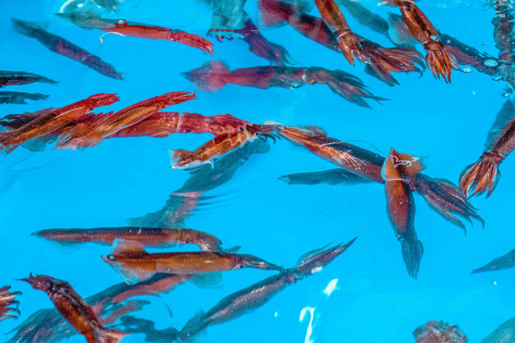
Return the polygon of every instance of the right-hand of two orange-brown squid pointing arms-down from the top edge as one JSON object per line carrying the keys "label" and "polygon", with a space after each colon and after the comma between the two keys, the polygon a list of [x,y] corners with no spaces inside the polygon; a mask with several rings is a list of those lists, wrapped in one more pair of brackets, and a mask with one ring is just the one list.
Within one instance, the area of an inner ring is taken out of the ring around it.
{"label": "right-hand of two orange-brown squid pointing arms-down from the top edge", "polygon": [[454,56],[449,54],[440,41],[438,32],[433,24],[413,2],[406,0],[385,0],[385,4],[398,6],[402,18],[413,36],[424,46],[426,51],[425,63],[435,78],[442,76],[445,83],[451,82],[451,71],[459,70]]}

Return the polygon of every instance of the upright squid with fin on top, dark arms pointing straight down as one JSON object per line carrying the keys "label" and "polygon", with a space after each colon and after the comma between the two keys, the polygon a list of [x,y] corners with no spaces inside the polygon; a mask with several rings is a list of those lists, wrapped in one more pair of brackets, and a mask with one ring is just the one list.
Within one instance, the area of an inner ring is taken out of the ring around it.
{"label": "upright squid with fin on top, dark arms pointing straight down", "polygon": [[[402,154],[390,149],[383,165],[382,174],[385,179],[386,213],[401,244],[401,253],[408,275],[417,279],[420,260],[424,254],[422,242],[415,231],[415,200],[409,187],[407,177],[422,171],[422,163],[415,161],[417,166],[407,166],[399,161],[406,161]],[[411,162],[409,162],[411,164]],[[409,168],[416,169],[413,172]]]}

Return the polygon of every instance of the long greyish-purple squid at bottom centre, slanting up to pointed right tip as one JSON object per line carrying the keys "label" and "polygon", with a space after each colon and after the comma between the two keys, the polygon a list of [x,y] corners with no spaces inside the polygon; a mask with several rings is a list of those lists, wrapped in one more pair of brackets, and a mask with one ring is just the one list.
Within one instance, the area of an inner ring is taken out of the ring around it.
{"label": "long greyish-purple squid at bottom centre, slanting up to pointed right tip", "polygon": [[[357,238],[357,237],[356,237]],[[191,341],[209,325],[221,324],[257,310],[287,286],[321,271],[356,240],[332,248],[316,249],[302,255],[294,267],[254,283],[221,299],[208,312],[190,319],[179,332],[176,342]]]}

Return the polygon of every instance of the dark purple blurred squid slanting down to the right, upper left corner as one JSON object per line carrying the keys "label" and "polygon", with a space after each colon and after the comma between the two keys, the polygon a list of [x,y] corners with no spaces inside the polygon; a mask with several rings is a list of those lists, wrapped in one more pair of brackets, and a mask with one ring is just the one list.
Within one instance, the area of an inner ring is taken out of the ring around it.
{"label": "dark purple blurred squid slanting down to the right, upper left corner", "polygon": [[102,61],[100,57],[89,53],[80,46],[77,46],[62,37],[54,35],[53,33],[47,32],[43,27],[36,23],[14,18],[11,18],[11,20],[16,31],[27,37],[37,39],[47,49],[54,53],[82,63],[102,75],[112,77],[117,80],[123,79],[122,74],[118,73],[113,65]]}

